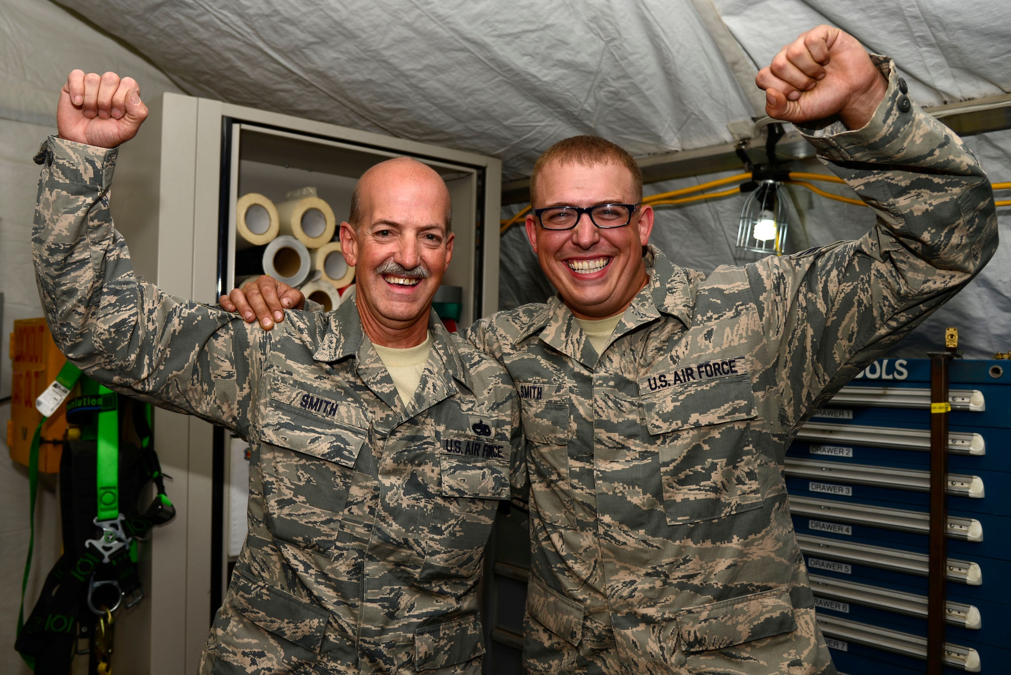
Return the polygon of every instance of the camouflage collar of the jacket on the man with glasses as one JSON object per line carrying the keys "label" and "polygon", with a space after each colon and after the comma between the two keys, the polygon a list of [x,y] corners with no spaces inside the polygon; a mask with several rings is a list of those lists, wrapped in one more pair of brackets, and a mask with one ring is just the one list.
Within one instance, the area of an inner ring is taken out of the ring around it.
{"label": "camouflage collar of the jacket on the man with glasses", "polygon": [[[647,247],[646,272],[649,282],[636,294],[615,328],[615,336],[660,318],[674,316],[691,327],[695,316],[696,288],[702,275],[677,267],[654,246]],[[596,363],[593,349],[572,311],[555,294],[544,308],[531,317],[520,340],[540,332],[540,339],[587,367]]]}

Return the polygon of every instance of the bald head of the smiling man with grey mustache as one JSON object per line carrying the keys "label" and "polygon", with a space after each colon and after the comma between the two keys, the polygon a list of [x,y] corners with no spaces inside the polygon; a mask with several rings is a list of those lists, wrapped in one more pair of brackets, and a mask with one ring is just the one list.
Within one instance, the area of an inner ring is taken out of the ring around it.
{"label": "bald head of the smiling man with grey mustache", "polygon": [[358,207],[359,222],[341,223],[341,248],[356,268],[362,325],[380,345],[419,345],[432,296],[453,257],[446,184],[419,162],[389,160],[362,176]]}

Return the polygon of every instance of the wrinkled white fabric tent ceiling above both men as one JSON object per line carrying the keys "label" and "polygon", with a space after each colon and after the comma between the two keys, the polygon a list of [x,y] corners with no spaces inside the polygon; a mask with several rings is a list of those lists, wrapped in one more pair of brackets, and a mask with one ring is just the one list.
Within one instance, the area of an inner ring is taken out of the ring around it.
{"label": "wrinkled white fabric tent ceiling above both men", "polygon": [[[576,133],[642,156],[732,140],[754,113],[713,0],[61,2],[190,93],[494,155],[507,179]],[[752,73],[830,22],[897,58],[921,104],[1011,91],[1006,0],[715,4]]]}

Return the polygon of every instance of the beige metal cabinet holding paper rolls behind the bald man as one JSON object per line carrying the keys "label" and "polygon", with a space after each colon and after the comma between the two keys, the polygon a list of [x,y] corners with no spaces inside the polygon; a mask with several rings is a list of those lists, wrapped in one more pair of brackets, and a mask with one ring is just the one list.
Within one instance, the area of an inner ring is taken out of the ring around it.
{"label": "beige metal cabinet holding paper rolls behind the bald man", "polygon": [[[361,174],[390,157],[413,157],[439,172],[453,197],[455,255],[445,284],[463,288],[461,326],[498,308],[501,164],[494,158],[357,131],[202,98],[165,94],[125,143],[110,195],[116,226],[136,273],[164,291],[210,304],[232,288],[235,206],[257,191],[274,200],[315,186],[347,218]],[[142,549],[147,598],[117,620],[116,670],[196,672],[211,612],[227,586],[229,465],[223,429],[165,410],[155,443],[176,519]],[[241,471],[237,473],[241,474]],[[237,477],[238,492],[245,491]]]}

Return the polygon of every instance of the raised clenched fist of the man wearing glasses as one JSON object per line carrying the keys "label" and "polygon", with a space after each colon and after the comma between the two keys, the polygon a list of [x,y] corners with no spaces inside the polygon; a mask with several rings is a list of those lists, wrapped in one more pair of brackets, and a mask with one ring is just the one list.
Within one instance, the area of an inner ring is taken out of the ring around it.
{"label": "raised clenched fist of the man wearing glasses", "polygon": [[875,114],[888,82],[852,35],[828,25],[802,33],[758,72],[765,113],[804,123],[838,115],[858,129]]}

